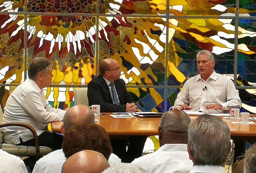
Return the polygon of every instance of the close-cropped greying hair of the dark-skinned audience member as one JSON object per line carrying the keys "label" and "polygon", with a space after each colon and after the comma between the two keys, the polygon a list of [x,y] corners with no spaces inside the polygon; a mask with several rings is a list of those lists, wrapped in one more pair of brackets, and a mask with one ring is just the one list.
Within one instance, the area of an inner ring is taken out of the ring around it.
{"label": "close-cropped greying hair of the dark-skinned audience member", "polygon": [[182,110],[171,110],[162,115],[160,128],[163,136],[169,133],[187,133],[190,117]]}

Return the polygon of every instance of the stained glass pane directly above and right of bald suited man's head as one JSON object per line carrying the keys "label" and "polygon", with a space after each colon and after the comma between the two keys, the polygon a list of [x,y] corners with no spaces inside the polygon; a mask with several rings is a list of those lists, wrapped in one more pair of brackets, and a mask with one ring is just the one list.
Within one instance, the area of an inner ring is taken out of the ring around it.
{"label": "stained glass pane directly above and right of bald suited man's head", "polygon": [[161,18],[100,17],[99,60],[119,61],[128,85],[165,80],[166,22]]}

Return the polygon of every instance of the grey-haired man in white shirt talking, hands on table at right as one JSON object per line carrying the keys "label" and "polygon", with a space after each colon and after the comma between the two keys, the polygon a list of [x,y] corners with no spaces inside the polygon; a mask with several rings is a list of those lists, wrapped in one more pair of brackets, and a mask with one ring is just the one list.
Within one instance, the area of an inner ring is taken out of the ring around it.
{"label": "grey-haired man in white shirt talking, hands on table at right", "polygon": [[241,99],[229,77],[214,71],[215,58],[208,50],[197,54],[199,75],[189,78],[179,92],[174,105],[204,113],[227,113],[241,108]]}

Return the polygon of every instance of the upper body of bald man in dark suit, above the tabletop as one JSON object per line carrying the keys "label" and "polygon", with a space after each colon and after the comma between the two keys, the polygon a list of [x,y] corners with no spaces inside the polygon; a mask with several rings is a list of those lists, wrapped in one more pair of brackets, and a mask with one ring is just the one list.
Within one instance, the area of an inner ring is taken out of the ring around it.
{"label": "upper body of bald man in dark suit, above the tabletop", "polygon": [[101,112],[137,111],[134,100],[126,90],[124,80],[119,79],[121,71],[117,60],[111,58],[102,60],[101,74],[88,84],[89,106],[100,105]]}

